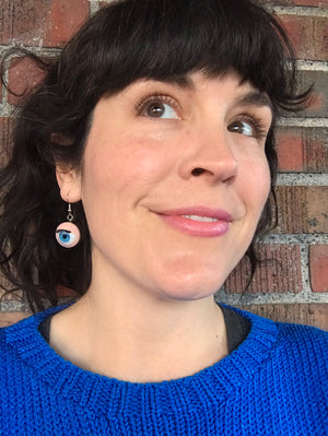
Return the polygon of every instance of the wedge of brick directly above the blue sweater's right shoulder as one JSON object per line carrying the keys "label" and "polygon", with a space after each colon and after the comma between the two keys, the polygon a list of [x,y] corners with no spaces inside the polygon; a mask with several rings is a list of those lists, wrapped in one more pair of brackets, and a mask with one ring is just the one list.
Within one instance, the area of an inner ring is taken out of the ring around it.
{"label": "wedge of brick directly above the blue sweater's right shoulder", "polygon": [[295,322],[328,330],[328,304],[260,304],[239,306],[273,321]]}

